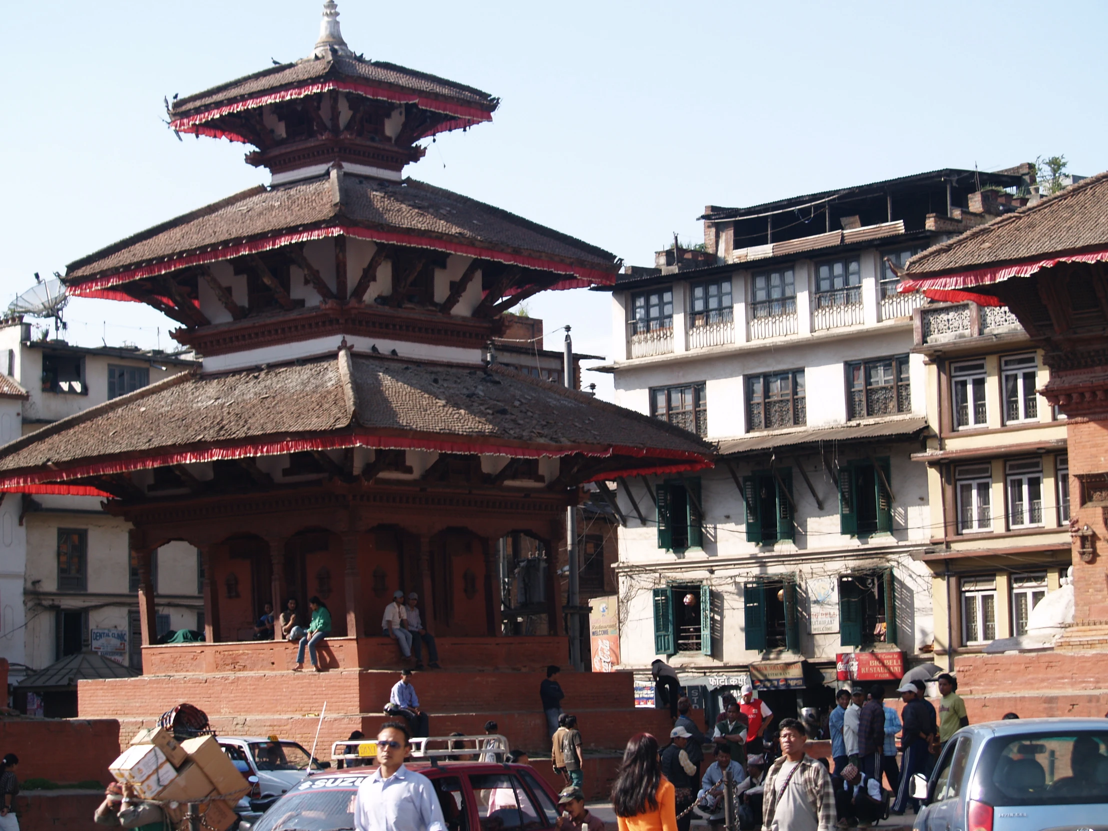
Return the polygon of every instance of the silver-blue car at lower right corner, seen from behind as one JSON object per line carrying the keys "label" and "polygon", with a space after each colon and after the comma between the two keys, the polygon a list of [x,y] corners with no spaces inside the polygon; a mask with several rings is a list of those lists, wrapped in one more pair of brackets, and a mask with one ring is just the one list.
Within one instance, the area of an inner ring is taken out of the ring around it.
{"label": "silver-blue car at lower right corner, seen from behind", "polygon": [[1108,719],[1029,718],[971,725],[946,742],[912,796],[916,831],[1108,828]]}

